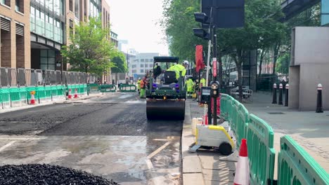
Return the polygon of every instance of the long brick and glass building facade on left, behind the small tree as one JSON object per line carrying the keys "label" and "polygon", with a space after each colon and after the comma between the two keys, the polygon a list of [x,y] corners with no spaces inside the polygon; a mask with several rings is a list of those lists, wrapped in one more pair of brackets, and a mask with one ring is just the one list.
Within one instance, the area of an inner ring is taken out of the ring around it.
{"label": "long brick and glass building facade on left, behind the small tree", "polygon": [[0,0],[0,67],[66,70],[60,49],[75,25],[97,16],[110,26],[105,0]]}

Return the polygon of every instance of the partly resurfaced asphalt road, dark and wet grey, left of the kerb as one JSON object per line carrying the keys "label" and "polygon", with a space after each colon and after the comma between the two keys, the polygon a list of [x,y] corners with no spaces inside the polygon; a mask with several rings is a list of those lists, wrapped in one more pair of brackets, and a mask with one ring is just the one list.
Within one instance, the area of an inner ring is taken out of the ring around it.
{"label": "partly resurfaced asphalt road, dark and wet grey, left of the kerb", "polygon": [[0,165],[72,167],[120,184],[179,184],[183,121],[148,121],[136,93],[0,114]]}

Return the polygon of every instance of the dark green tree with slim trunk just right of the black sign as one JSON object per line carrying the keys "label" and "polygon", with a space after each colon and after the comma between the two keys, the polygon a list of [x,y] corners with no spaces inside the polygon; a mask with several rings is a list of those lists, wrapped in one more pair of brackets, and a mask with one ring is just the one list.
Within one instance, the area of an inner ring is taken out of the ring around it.
{"label": "dark green tree with slim trunk just right of the black sign", "polygon": [[285,35],[285,25],[278,22],[283,16],[280,5],[275,0],[245,1],[245,27],[220,29],[221,46],[233,50],[231,57],[238,70],[239,100],[242,101],[242,64],[250,50],[269,48],[280,42]]}

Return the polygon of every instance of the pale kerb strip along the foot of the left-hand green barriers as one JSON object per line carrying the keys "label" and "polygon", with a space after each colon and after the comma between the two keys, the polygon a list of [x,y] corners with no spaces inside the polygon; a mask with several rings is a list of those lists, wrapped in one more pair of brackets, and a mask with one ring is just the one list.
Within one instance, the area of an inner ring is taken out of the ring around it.
{"label": "pale kerb strip along the foot of the left-hand green barriers", "polygon": [[45,102],[42,104],[27,104],[25,106],[22,107],[14,107],[14,108],[8,108],[8,109],[0,109],[0,114],[1,113],[6,113],[6,112],[11,112],[11,111],[19,111],[19,110],[23,110],[23,109],[31,109],[34,107],[40,107],[40,106],[45,106],[45,105],[50,105],[50,104],[63,104],[63,103],[70,103],[70,102],[77,102],[77,101],[81,101],[81,100],[89,100],[92,97],[99,97],[99,96],[103,96],[101,93],[99,94],[93,94],[93,95],[89,95],[89,96],[82,96],[82,97],[78,97],[76,99],[72,99],[72,100],[58,100],[58,101],[54,101],[54,102]]}

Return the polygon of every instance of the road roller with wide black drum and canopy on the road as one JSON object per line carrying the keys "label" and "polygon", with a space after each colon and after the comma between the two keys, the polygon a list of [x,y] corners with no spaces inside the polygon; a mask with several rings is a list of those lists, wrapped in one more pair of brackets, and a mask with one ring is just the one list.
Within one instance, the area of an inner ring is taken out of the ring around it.
{"label": "road roller with wide black drum and canopy on the road", "polygon": [[[175,71],[166,71],[178,64],[178,57],[154,57],[146,89],[146,116],[148,120],[183,120],[185,116],[186,89],[183,76],[176,78]],[[160,69],[157,69],[160,67]]]}

